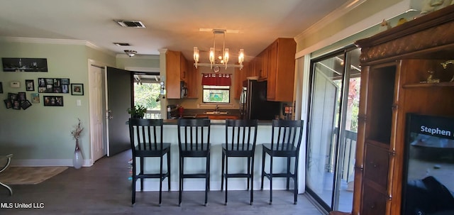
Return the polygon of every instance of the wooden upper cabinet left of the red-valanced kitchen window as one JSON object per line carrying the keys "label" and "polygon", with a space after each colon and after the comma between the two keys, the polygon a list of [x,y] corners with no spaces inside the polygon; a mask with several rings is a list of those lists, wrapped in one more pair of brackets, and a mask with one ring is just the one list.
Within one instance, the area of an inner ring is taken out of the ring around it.
{"label": "wooden upper cabinet left of the red-valanced kitchen window", "polygon": [[167,50],[165,53],[167,99],[181,99],[182,82],[187,81],[187,60],[181,52]]}

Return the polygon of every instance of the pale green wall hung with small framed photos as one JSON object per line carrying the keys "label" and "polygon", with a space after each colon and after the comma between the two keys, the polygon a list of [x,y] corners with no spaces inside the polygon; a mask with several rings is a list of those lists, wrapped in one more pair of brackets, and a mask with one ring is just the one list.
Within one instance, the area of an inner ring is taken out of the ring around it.
{"label": "pale green wall hung with small framed photos", "polygon": [[[18,160],[66,160],[72,159],[74,143],[70,132],[80,118],[84,133],[80,139],[84,158],[89,158],[89,95],[88,60],[115,65],[115,57],[80,45],[51,43],[25,43],[0,41],[0,57],[47,58],[48,72],[0,72],[3,94],[9,92],[38,92],[38,78],[69,78],[70,83],[84,84],[84,96],[69,94],[41,93],[40,103],[33,103],[26,110],[6,109],[0,106],[0,154],[13,153]],[[35,91],[26,91],[25,80],[35,80]],[[21,82],[20,88],[11,88],[11,81]],[[62,96],[64,106],[43,106],[43,95]],[[77,99],[81,106],[76,105]]]}

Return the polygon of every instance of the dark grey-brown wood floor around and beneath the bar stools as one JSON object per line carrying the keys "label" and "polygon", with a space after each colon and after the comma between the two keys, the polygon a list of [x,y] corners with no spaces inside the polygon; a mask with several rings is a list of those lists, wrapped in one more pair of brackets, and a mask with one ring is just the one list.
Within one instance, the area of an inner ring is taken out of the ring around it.
{"label": "dark grey-brown wood floor around and beneath the bar stools", "polygon": [[[127,150],[101,158],[92,167],[70,167],[40,184],[11,185],[11,197],[0,187],[0,214],[321,214],[304,194],[293,204],[288,191],[274,191],[270,205],[267,190],[254,192],[252,206],[247,191],[229,191],[227,205],[223,204],[224,192],[210,191],[208,206],[203,206],[204,192],[183,192],[182,206],[178,206],[178,192],[162,192],[162,206],[157,204],[158,192],[137,192],[132,207],[130,158]],[[28,206],[32,208],[23,208]]]}

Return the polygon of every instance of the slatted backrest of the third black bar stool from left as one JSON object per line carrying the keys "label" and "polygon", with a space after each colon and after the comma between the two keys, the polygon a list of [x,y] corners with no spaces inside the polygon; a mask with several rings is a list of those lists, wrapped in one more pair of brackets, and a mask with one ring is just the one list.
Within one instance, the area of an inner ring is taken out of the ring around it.
{"label": "slatted backrest of the third black bar stool from left", "polygon": [[226,150],[255,150],[257,119],[226,120]]}

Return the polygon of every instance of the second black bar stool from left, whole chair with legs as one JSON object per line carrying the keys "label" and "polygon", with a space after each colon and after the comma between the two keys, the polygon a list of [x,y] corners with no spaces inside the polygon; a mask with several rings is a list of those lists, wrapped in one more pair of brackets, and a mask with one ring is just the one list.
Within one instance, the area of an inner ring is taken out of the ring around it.
{"label": "second black bar stool from left, whole chair with legs", "polygon": [[[210,187],[210,120],[206,118],[179,118],[179,197],[178,205],[182,205],[183,180],[185,178],[205,179],[205,206],[208,202]],[[206,158],[204,173],[184,174],[184,158]]]}

